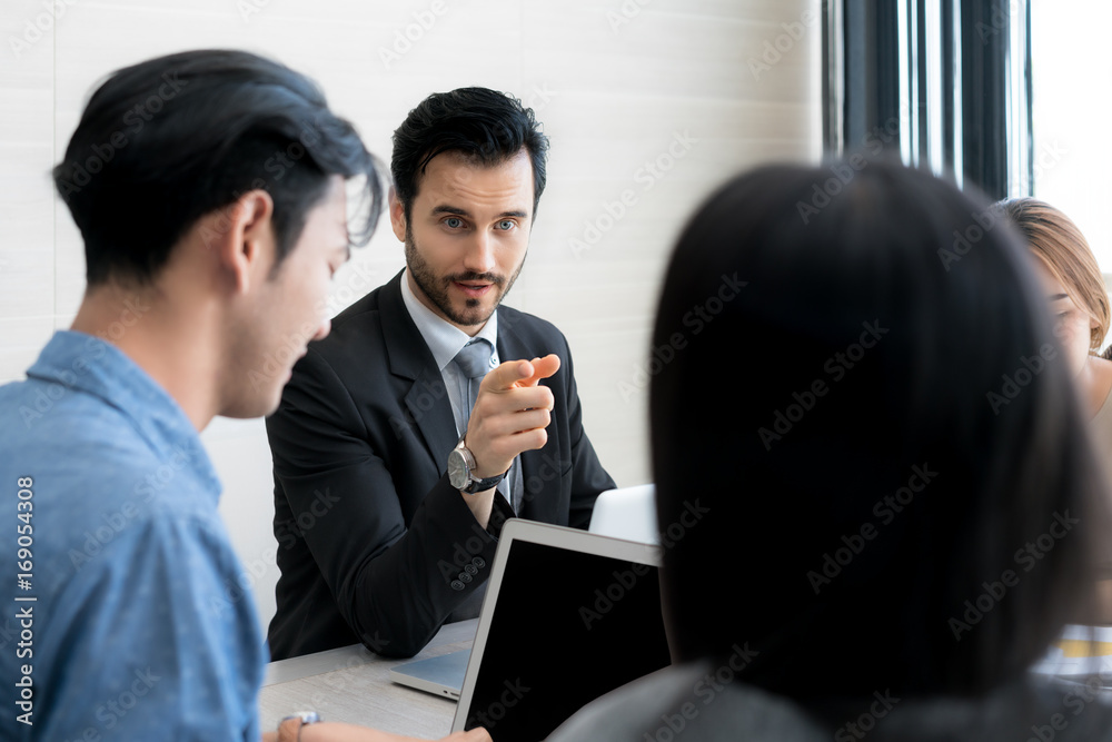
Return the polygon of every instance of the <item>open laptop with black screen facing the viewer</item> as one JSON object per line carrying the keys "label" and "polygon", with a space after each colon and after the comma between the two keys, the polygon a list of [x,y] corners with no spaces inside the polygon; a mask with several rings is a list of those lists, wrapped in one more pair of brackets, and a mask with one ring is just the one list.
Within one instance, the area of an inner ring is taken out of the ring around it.
{"label": "open laptop with black screen facing the viewer", "polygon": [[508,521],[451,731],[543,740],[596,698],[669,665],[658,566],[656,546]]}

